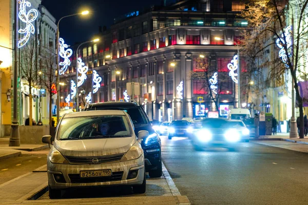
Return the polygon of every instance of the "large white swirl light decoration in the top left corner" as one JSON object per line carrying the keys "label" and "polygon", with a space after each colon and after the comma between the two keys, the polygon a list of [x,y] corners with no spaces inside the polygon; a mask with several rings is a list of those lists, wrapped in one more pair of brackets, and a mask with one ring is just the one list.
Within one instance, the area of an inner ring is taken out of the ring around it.
{"label": "large white swirl light decoration in the top left corner", "polygon": [[18,40],[18,44],[17,44],[17,47],[21,48],[27,44],[31,33],[34,34],[35,32],[35,28],[32,22],[34,22],[34,20],[37,18],[38,12],[36,9],[30,9],[27,12],[26,7],[31,7],[31,3],[26,2],[26,0],[20,0],[18,1],[18,3],[20,4],[18,18],[22,22],[26,23],[26,27],[24,29],[18,30],[18,33],[24,34],[23,38]]}

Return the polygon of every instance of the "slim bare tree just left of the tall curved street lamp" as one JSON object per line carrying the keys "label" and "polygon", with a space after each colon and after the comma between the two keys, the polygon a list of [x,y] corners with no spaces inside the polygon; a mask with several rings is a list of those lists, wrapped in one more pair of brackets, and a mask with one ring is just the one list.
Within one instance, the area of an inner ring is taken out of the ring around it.
{"label": "slim bare tree just left of the tall curved street lamp", "polygon": [[41,85],[49,93],[49,126],[52,126],[52,96],[55,94],[53,85],[56,83],[56,54],[52,46],[44,46],[41,50]]}

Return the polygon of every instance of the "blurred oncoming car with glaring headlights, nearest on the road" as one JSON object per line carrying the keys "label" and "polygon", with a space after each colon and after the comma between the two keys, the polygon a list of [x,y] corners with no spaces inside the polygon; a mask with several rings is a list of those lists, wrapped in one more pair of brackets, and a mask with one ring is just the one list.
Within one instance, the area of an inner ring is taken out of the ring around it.
{"label": "blurred oncoming car with glaring headlights, nearest on the road", "polygon": [[196,150],[211,146],[234,149],[238,142],[249,141],[249,130],[241,120],[206,118],[195,127],[191,140]]}

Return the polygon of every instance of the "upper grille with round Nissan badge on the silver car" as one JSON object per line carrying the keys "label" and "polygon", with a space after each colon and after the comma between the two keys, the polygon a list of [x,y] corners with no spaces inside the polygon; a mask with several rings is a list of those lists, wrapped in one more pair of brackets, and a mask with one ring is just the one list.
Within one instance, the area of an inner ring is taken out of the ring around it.
{"label": "upper grille with round Nissan badge on the silver car", "polygon": [[106,156],[86,156],[86,157],[77,157],[77,156],[65,156],[70,163],[87,163],[89,165],[97,165],[100,163],[106,163],[110,161],[120,161],[124,153],[113,154]]}

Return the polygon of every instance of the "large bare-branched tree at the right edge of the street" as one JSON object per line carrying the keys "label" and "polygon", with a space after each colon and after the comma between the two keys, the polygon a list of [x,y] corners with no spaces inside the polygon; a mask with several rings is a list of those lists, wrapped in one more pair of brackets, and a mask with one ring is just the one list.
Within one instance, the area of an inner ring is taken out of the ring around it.
{"label": "large bare-branched tree at the right edge of the street", "polygon": [[262,61],[262,65],[268,69],[268,76],[274,79],[274,83],[286,81],[286,75],[291,74],[300,113],[300,138],[304,137],[304,121],[303,99],[300,96],[298,81],[306,78],[303,70],[307,63],[305,54],[308,48],[308,25],[305,22],[308,17],[307,4],[308,0],[253,1],[241,14],[254,28],[244,35],[245,52],[250,57],[262,58],[267,49],[276,47],[275,39],[278,39],[281,60],[268,58]]}

